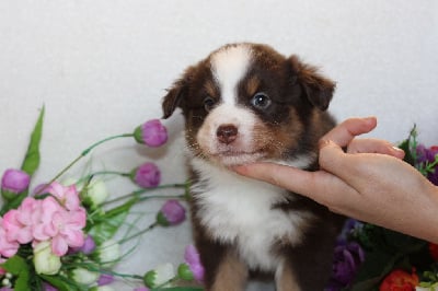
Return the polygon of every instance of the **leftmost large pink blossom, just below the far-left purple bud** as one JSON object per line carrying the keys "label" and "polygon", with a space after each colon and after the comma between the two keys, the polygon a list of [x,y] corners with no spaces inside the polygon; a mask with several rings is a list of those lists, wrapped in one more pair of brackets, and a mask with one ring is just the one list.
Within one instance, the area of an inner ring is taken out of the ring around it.
{"label": "leftmost large pink blossom, just below the far-left purple bud", "polygon": [[26,197],[15,210],[9,210],[3,217],[3,226],[9,241],[27,244],[33,240],[33,226],[41,218],[41,200]]}

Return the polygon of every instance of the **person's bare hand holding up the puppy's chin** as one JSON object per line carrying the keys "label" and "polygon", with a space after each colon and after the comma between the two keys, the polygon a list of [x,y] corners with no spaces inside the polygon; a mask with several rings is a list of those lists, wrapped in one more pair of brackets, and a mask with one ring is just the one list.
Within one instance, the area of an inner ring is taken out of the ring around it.
{"label": "person's bare hand holding up the puppy's chin", "polygon": [[326,133],[320,140],[316,172],[273,163],[233,170],[334,212],[438,243],[438,187],[403,162],[404,152],[390,142],[356,138],[376,126],[374,117],[350,118]]}

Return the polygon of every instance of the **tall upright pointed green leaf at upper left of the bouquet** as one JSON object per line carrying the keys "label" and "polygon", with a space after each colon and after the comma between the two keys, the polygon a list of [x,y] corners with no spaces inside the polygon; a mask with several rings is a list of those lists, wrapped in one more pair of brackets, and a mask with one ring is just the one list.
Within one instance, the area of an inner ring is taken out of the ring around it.
{"label": "tall upright pointed green leaf at upper left of the bouquet", "polygon": [[39,113],[38,120],[36,121],[35,128],[31,135],[31,141],[27,147],[27,152],[24,158],[21,170],[30,174],[31,176],[35,173],[39,165],[39,141],[43,132],[43,118],[44,118],[44,106]]}

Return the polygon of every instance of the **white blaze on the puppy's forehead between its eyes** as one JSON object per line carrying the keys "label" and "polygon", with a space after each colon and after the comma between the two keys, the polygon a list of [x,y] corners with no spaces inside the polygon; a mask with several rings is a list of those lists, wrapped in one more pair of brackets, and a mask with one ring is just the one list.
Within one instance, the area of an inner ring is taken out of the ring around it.
{"label": "white blaze on the puppy's forehead between its eyes", "polygon": [[211,56],[211,69],[221,91],[223,103],[235,103],[239,82],[251,61],[249,45],[224,47]]}

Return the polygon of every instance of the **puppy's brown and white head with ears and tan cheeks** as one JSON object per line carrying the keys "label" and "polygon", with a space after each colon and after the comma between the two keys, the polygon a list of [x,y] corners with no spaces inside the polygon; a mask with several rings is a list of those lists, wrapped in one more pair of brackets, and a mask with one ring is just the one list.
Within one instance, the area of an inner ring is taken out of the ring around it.
{"label": "puppy's brown and white head with ears and tan cheeks", "polygon": [[265,45],[227,45],[173,84],[164,118],[182,108],[191,152],[214,163],[290,160],[314,152],[333,126],[324,110],[334,86],[296,56]]}

